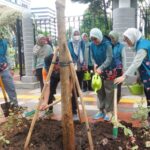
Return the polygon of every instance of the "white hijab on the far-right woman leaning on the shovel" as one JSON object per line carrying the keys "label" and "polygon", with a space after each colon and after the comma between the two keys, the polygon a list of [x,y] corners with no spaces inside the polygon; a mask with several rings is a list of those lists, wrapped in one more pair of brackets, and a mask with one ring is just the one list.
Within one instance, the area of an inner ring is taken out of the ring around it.
{"label": "white hijab on the far-right woman leaning on the shovel", "polygon": [[136,42],[142,37],[142,33],[136,28],[128,28],[123,35],[126,36],[133,45],[135,45]]}

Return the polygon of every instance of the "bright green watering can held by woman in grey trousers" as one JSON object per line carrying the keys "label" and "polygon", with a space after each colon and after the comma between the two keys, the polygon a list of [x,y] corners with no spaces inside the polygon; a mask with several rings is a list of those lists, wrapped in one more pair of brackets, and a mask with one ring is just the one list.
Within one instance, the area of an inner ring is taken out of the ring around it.
{"label": "bright green watering can held by woman in grey trousers", "polygon": [[95,73],[92,77],[92,89],[97,92],[102,87],[102,79],[99,74]]}

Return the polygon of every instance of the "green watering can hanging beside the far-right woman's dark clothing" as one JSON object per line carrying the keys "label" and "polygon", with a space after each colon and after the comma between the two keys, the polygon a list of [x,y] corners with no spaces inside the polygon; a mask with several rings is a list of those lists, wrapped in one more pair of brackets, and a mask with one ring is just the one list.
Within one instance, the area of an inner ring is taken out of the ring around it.
{"label": "green watering can hanging beside the far-right woman's dark clothing", "polygon": [[142,84],[134,83],[132,85],[127,85],[127,87],[133,95],[142,95],[144,93],[144,87]]}

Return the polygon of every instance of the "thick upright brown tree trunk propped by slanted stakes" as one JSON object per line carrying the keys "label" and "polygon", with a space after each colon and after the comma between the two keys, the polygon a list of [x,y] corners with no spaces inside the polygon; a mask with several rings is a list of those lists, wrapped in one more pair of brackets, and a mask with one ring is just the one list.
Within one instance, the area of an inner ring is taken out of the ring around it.
{"label": "thick upright brown tree trunk propped by slanted stakes", "polygon": [[63,149],[75,150],[74,124],[72,117],[71,92],[70,88],[70,69],[68,57],[64,44],[66,40],[65,29],[65,0],[56,0],[58,45],[60,60],[60,81],[62,99],[62,128],[63,128]]}

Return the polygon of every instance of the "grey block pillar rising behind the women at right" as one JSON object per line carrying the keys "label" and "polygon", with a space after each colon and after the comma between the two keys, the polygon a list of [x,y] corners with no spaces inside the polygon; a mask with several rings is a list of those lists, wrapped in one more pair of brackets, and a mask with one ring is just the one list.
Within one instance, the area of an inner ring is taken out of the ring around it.
{"label": "grey block pillar rising behind the women at right", "polygon": [[[137,27],[137,0],[113,0],[113,30],[120,34],[131,27]],[[127,67],[132,63],[134,53],[126,48]]]}

